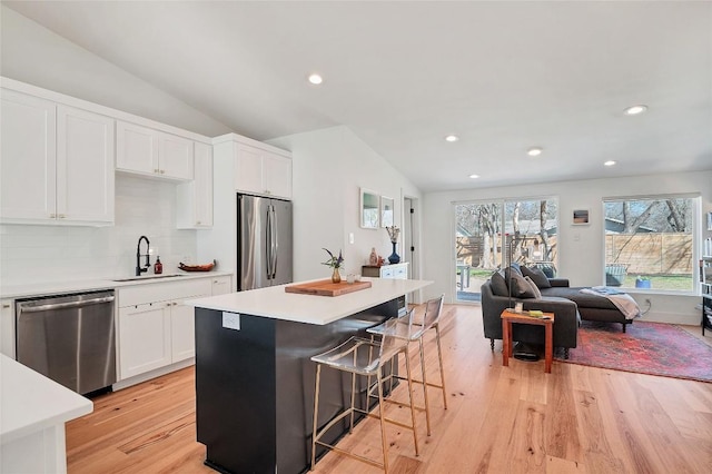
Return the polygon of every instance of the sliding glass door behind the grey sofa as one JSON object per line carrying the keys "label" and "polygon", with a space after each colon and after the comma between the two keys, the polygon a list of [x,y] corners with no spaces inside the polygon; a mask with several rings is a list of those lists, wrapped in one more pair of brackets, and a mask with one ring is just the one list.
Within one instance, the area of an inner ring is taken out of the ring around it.
{"label": "sliding glass door behind the grey sofa", "polygon": [[478,302],[479,287],[510,261],[556,274],[553,198],[455,204],[455,294]]}

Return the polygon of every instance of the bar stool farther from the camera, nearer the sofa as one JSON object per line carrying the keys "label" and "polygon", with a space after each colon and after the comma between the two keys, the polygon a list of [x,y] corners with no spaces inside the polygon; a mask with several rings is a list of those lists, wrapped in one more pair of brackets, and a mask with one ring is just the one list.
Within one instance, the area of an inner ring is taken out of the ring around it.
{"label": "bar stool farther from the camera, nearer the sofa", "polygon": [[[423,397],[425,399],[425,408],[416,406],[417,409],[425,409],[425,423],[427,426],[427,434],[431,435],[431,408],[429,401],[427,395],[427,387],[439,388],[443,391],[443,405],[445,409],[447,409],[447,394],[445,389],[445,371],[443,369],[443,349],[441,346],[441,330],[439,330],[439,319],[441,313],[443,310],[443,299],[445,295],[441,295],[437,298],[433,298],[425,304],[425,315],[423,316],[422,322],[413,320],[413,317],[406,319],[405,316],[397,318],[398,322],[397,329],[394,334],[395,337],[406,340],[408,344],[417,342],[418,343],[418,352],[421,356],[421,376],[422,381],[411,379],[408,383],[415,383],[423,385]],[[426,368],[425,368],[425,349],[423,346],[423,337],[428,329],[435,329],[435,340],[437,342],[437,358],[439,361],[439,372],[441,372],[441,383],[434,384],[427,382]],[[370,327],[366,329],[372,335],[382,335],[385,330],[385,323],[378,326]],[[373,336],[372,336],[373,339]],[[404,379],[398,375],[394,375],[393,371],[390,375],[387,377],[389,379],[398,378]],[[409,375],[408,375],[409,378]],[[397,403],[393,401],[393,403]]]}

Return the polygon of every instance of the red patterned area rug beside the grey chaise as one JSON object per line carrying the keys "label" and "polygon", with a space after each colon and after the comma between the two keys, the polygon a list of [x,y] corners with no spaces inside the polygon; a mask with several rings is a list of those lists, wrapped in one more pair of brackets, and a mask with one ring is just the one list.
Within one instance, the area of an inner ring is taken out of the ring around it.
{"label": "red patterned area rug beside the grey chaise", "polygon": [[561,362],[615,371],[712,382],[712,346],[686,330],[662,323],[620,324],[584,320],[578,345]]}

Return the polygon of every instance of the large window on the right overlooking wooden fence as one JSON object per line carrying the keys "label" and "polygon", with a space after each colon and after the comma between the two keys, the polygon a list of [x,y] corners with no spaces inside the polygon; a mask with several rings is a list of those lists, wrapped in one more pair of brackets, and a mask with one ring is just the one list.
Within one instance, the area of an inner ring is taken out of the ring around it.
{"label": "large window on the right overlooking wooden fence", "polygon": [[699,197],[605,199],[605,284],[694,290]]}

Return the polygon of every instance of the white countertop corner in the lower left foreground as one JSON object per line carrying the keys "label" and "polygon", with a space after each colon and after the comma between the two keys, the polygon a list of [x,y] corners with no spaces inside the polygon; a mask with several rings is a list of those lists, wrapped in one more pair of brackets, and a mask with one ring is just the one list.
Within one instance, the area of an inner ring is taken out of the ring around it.
{"label": "white countertop corner in the lower left foreground", "polygon": [[90,399],[2,354],[0,381],[3,444],[93,411]]}

